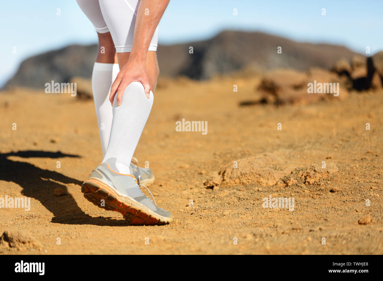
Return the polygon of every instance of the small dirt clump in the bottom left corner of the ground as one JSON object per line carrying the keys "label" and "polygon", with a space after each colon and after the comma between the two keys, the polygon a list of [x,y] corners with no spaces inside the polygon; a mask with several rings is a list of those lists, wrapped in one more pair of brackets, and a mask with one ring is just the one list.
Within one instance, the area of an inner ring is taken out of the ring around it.
{"label": "small dirt clump in the bottom left corner of the ground", "polygon": [[30,248],[41,249],[42,245],[28,232],[7,229],[0,237],[0,246],[25,250]]}

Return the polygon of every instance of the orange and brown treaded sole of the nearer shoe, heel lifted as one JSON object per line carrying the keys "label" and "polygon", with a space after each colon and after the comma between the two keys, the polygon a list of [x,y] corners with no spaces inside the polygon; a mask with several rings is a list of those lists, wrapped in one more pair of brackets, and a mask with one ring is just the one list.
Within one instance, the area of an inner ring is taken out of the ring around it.
{"label": "orange and brown treaded sole of the nearer shoe, heel lifted", "polygon": [[[164,225],[173,220],[155,213],[129,196],[120,196],[113,188],[96,179],[83,182],[81,192],[99,208],[121,213],[129,225]],[[105,206],[101,206],[101,200],[105,201]]]}

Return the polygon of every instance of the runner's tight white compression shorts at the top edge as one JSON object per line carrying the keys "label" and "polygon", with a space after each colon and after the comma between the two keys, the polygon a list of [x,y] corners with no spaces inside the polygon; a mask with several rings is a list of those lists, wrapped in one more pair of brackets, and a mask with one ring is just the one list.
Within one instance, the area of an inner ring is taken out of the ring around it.
{"label": "runner's tight white compression shorts at the top edge", "polygon": [[[139,0],[77,0],[98,33],[110,32],[116,52],[132,51]],[[157,51],[158,26],[148,51]]]}

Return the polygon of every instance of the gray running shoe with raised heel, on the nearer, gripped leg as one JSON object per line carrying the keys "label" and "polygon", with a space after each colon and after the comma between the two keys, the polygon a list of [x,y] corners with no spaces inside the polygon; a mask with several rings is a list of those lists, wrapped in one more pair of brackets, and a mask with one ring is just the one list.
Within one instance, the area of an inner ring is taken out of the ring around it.
{"label": "gray running shoe with raised heel, on the nearer, gripped leg", "polygon": [[[169,211],[157,206],[142,193],[135,175],[123,175],[101,163],[82,184],[81,192],[94,205],[107,210],[118,211],[131,225],[162,225],[173,220]],[[104,200],[104,201],[101,201]]]}

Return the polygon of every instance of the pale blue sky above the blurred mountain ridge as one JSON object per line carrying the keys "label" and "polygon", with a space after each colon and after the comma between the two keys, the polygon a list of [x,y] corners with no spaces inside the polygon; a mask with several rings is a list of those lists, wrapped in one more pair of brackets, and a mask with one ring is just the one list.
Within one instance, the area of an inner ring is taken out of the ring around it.
{"label": "pale blue sky above the blurred mountain ridge", "polygon": [[[0,87],[31,55],[97,40],[75,0],[3,1],[0,24]],[[369,46],[374,54],[383,50],[383,0],[170,0],[160,22],[159,43],[207,39],[224,29],[345,45],[359,53]]]}

